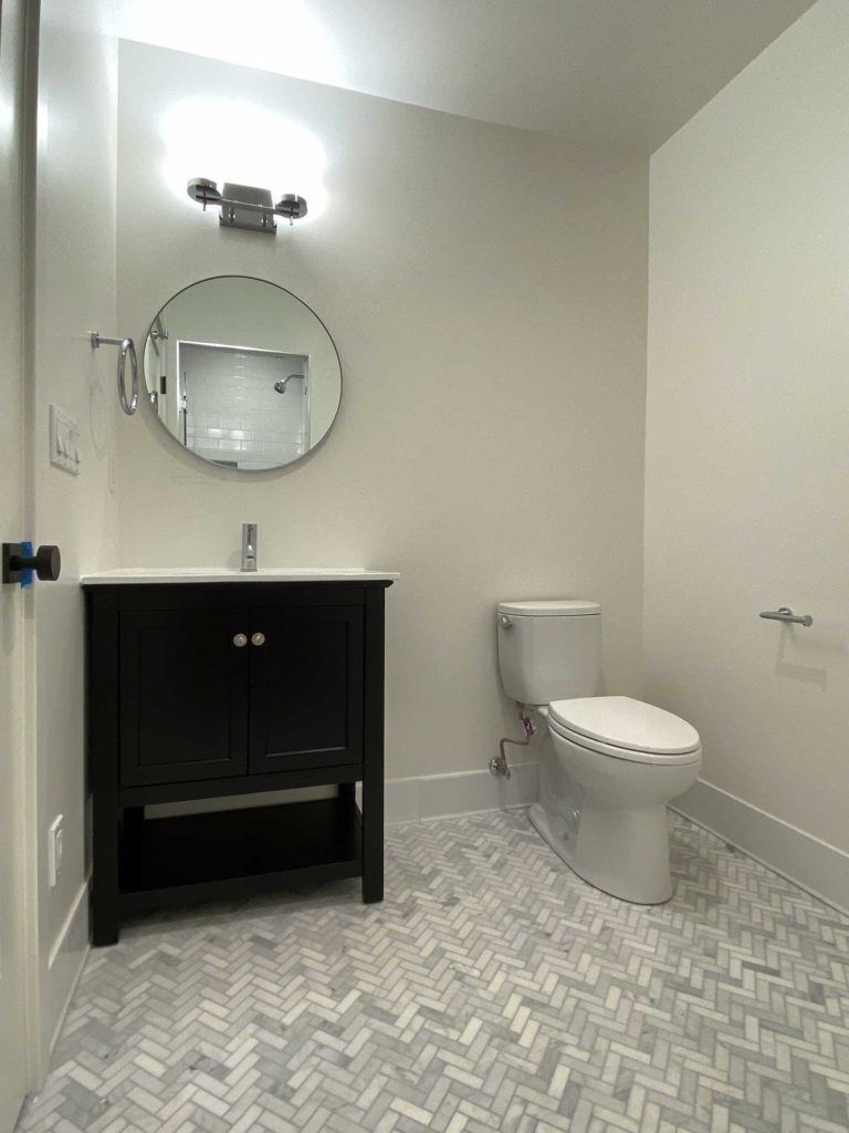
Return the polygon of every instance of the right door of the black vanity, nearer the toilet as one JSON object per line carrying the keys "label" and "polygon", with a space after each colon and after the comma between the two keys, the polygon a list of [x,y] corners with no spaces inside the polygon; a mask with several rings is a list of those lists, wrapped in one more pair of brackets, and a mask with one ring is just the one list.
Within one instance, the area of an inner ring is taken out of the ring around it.
{"label": "right door of the black vanity, nearer the toilet", "polygon": [[362,760],[361,606],[251,612],[252,773]]}

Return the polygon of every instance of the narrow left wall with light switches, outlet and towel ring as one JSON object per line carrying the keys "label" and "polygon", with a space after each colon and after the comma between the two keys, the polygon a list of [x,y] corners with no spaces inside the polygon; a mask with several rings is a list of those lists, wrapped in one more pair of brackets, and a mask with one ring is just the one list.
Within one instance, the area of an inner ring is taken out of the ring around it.
{"label": "narrow left wall with light switches, outlet and towel ring", "polygon": [[[58,582],[36,582],[26,597],[28,734],[38,892],[37,1008],[43,1070],[46,1049],[87,947],[88,870],[84,761],[84,633],[79,576],[113,565],[117,496],[109,487],[114,451],[115,352],[95,352],[88,332],[115,332],[117,43],[105,31],[105,0],[42,0],[38,107],[32,153],[37,161],[28,245],[26,535],[61,548]],[[85,82],[80,77],[85,76]],[[31,170],[33,173],[33,170]],[[34,233],[34,235],[33,235]],[[53,402],[82,429],[79,477],[49,463]],[[32,696],[29,696],[32,691]],[[63,816],[65,860],[48,886],[48,827]],[[37,1062],[38,1059],[36,1059]],[[37,1084],[33,1082],[32,1084]]]}

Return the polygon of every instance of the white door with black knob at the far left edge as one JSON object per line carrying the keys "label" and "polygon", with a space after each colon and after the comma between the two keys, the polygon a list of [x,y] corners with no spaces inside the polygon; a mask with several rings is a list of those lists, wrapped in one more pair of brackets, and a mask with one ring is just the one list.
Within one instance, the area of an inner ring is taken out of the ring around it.
{"label": "white door with black knob at the far left edge", "polygon": [[[22,84],[24,0],[0,0],[0,538],[23,523]],[[24,1019],[23,595],[0,586],[0,1130],[26,1087]]]}

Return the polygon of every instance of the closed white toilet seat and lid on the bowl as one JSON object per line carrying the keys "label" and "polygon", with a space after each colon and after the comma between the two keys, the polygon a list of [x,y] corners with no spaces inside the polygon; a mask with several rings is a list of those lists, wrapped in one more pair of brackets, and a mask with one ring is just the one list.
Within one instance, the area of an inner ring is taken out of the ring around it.
{"label": "closed white toilet seat and lid on the bowl", "polygon": [[679,716],[632,697],[578,697],[549,705],[552,732],[590,751],[668,766],[701,759],[696,730]]}

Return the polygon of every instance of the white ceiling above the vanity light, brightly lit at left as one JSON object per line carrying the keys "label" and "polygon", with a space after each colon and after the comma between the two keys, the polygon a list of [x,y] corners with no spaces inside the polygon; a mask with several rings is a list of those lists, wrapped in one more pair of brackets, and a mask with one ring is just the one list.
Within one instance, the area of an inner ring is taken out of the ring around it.
{"label": "white ceiling above the vanity light, brightly lit at left", "polygon": [[813,0],[115,0],[118,34],[651,153]]}

